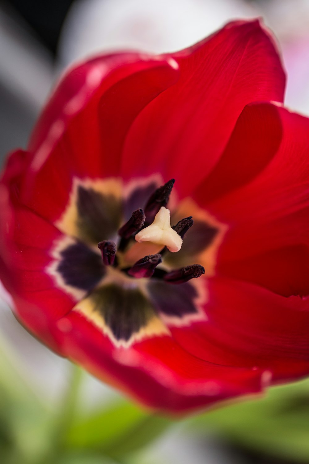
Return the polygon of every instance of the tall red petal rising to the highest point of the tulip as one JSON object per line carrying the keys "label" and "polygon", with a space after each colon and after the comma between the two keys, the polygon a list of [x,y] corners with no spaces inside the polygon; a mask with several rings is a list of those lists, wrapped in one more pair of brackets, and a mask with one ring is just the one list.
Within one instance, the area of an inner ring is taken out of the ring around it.
{"label": "tall red petal rising to the highest point of the tulip", "polygon": [[247,103],[282,101],[284,72],[258,21],[230,23],[200,44],[172,55],[180,78],[132,124],[126,177],[164,172],[190,193],[214,167]]}

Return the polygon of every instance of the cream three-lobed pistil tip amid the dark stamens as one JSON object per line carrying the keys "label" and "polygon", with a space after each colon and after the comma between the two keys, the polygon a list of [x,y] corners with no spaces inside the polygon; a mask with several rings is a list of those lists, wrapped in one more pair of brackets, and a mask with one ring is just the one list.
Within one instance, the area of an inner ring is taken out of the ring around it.
{"label": "cream three-lobed pistil tip amid the dark stamens", "polygon": [[166,246],[173,253],[181,249],[183,239],[170,226],[170,210],[162,206],[153,223],[135,235],[137,242],[152,242]]}

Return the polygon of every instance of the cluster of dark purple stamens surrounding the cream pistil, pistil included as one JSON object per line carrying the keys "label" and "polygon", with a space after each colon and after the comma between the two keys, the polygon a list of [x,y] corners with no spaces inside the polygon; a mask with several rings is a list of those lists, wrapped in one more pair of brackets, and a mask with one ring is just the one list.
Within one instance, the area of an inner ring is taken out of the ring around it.
{"label": "cluster of dark purple stamens surrounding the cream pistil, pistil included", "polygon": [[170,284],[182,284],[205,273],[200,264],[173,271],[166,271],[162,265],[165,252],[179,251],[185,233],[193,226],[192,216],[170,226],[170,210],[166,206],[174,182],[171,179],[157,188],[147,201],[145,211],[142,208],[133,211],[118,230],[118,246],[112,240],[99,242],[98,248],[106,266],[112,265],[131,277],[155,277]]}

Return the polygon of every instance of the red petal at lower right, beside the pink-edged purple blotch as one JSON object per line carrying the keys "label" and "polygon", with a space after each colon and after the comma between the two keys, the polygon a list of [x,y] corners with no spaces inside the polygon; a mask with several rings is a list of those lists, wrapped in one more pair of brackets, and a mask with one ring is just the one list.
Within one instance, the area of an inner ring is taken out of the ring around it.
{"label": "red petal at lower right, beside the pink-edged purple blotch", "polygon": [[274,381],[309,372],[309,299],[275,295],[256,285],[208,281],[207,322],[170,328],[194,356],[229,366],[270,370]]}

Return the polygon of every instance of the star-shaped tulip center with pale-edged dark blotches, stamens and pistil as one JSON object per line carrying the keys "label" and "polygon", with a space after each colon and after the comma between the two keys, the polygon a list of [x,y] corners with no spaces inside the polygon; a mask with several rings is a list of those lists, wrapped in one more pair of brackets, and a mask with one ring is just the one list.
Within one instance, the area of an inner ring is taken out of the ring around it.
{"label": "star-shaped tulip center with pale-edged dark blotches, stamens and pistil", "polygon": [[76,302],[72,315],[116,347],[207,318],[207,282],[196,277],[213,275],[226,226],[190,197],[176,203],[173,179],[159,185],[156,174],[75,178],[55,222],[63,235],[46,272]]}

